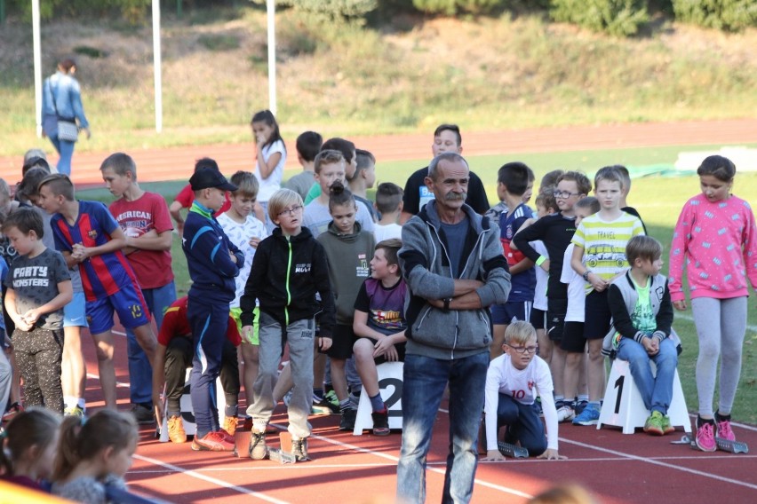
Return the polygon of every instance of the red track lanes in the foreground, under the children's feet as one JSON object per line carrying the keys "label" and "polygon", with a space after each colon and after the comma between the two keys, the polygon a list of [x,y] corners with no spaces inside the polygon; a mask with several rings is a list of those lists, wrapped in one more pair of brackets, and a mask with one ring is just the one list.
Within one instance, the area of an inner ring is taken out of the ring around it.
{"label": "red track lanes in the foreground, under the children's feet", "polygon": [[[128,382],[123,337],[116,337],[119,382]],[[88,407],[102,406],[97,366],[91,343],[84,344],[88,370]],[[128,388],[119,387],[119,404],[128,407]],[[695,403],[689,398],[689,408]],[[243,398],[241,398],[243,402]],[[437,416],[428,455],[427,501],[441,500],[448,443],[446,404]],[[160,443],[154,429],[142,429],[134,465],[127,480],[134,491],[170,502],[334,502],[394,501],[396,462],[401,435],[374,437],[339,432],[338,416],[314,416],[309,443],[313,461],[280,465],[274,461],[237,459],[229,453],[192,452],[189,444]],[[285,429],[283,406],[272,421]],[[757,428],[737,425],[737,438],[757,447]],[[525,502],[527,496],[552,484],[585,485],[599,502],[630,504],[678,500],[697,502],[757,501],[757,455],[701,453],[671,445],[683,434],[649,437],[641,431],[561,425],[560,453],[567,461],[508,460],[481,463],[476,473],[474,502]],[[275,435],[268,436],[277,445]]]}

